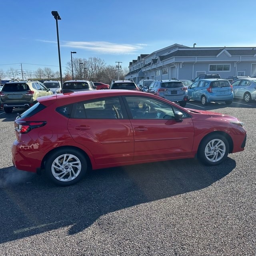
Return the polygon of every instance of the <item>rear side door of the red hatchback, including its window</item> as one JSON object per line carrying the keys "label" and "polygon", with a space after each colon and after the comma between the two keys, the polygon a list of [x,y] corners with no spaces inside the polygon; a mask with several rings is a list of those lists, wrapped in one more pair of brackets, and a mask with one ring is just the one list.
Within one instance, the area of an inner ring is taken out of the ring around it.
{"label": "rear side door of the red hatchback, including its window", "polygon": [[118,97],[74,104],[68,130],[77,143],[92,153],[96,164],[133,160],[133,130]]}

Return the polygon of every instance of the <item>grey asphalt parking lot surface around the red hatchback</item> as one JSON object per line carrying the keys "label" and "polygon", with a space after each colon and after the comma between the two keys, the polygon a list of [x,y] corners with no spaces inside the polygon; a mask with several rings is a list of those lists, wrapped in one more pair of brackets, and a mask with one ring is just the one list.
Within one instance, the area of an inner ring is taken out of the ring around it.
{"label": "grey asphalt parking lot surface around the red hatchback", "polygon": [[221,165],[196,159],[90,172],[70,187],[16,170],[20,110],[0,110],[0,255],[256,255],[256,102],[186,108],[245,123],[243,152]]}

